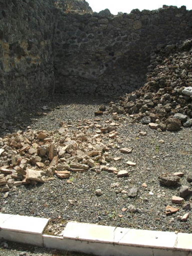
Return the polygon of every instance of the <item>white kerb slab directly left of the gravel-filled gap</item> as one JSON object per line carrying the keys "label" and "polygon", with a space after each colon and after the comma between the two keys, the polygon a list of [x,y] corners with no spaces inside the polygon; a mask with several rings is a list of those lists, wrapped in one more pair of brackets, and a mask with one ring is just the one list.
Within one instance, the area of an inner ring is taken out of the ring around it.
{"label": "white kerb slab directly left of the gravel-filled gap", "polygon": [[48,221],[45,218],[13,215],[1,224],[1,228],[3,230],[42,234]]}

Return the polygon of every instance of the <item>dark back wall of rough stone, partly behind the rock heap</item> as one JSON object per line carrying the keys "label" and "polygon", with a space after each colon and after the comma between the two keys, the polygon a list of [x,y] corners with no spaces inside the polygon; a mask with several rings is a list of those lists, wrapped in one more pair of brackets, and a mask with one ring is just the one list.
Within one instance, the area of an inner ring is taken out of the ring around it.
{"label": "dark back wall of rough stone, partly behind the rock heap", "polygon": [[120,94],[145,82],[157,47],[192,37],[192,10],[167,7],[113,16],[57,12],[56,92]]}

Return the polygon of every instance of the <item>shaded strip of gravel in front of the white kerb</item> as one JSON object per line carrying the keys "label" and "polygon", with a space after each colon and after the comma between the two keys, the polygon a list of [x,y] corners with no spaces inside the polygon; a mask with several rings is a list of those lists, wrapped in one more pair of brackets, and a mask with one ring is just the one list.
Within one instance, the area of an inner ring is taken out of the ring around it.
{"label": "shaded strip of gravel in front of the white kerb", "polygon": [[1,256],[89,256],[90,254],[80,252],[60,251],[56,249],[47,249],[27,244],[14,243],[0,240],[0,255]]}

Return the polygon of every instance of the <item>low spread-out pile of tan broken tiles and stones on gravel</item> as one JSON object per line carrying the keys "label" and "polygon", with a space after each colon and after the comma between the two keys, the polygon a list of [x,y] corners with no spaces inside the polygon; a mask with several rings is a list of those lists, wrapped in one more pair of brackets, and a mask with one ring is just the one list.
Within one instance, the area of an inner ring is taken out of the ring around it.
{"label": "low spread-out pile of tan broken tiles and stones on gravel", "polygon": [[[123,119],[122,119],[123,120]],[[109,167],[111,161],[109,147],[102,143],[102,137],[114,140],[117,126],[113,120],[98,124],[100,119],[86,120],[82,124],[61,123],[58,131],[33,131],[7,134],[0,137],[0,192],[22,184],[43,183],[53,175],[69,178],[71,172],[95,172],[105,170],[117,177],[127,176],[127,170],[118,171]],[[94,131],[88,131],[94,129]],[[121,152],[131,153],[131,149],[122,148]],[[115,161],[115,159],[114,159]],[[70,183],[70,179],[68,180]]]}

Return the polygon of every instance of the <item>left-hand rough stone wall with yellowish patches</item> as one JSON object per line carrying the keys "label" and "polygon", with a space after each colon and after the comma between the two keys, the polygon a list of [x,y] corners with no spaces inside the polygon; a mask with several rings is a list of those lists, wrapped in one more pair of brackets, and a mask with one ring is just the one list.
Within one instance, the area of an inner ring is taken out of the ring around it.
{"label": "left-hand rough stone wall with yellowish patches", "polygon": [[48,95],[52,0],[0,0],[0,119]]}

